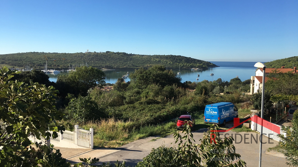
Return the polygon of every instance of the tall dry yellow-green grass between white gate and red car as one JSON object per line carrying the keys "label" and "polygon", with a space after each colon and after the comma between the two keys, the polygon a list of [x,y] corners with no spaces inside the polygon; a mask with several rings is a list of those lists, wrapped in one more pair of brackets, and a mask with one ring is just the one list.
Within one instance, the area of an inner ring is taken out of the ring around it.
{"label": "tall dry yellow-green grass between white gate and red car", "polygon": [[90,121],[82,125],[83,129],[93,128],[94,147],[115,148],[131,141],[149,136],[165,136],[175,131],[175,122],[160,125],[134,127],[132,121],[115,120],[108,118],[101,121]]}

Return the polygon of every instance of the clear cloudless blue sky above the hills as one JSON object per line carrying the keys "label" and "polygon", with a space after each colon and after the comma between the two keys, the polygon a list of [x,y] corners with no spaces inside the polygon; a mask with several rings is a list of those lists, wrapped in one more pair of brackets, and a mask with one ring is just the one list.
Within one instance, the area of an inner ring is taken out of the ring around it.
{"label": "clear cloudless blue sky above the hills", "polygon": [[87,49],[205,61],[298,56],[298,1],[0,0],[0,54]]}

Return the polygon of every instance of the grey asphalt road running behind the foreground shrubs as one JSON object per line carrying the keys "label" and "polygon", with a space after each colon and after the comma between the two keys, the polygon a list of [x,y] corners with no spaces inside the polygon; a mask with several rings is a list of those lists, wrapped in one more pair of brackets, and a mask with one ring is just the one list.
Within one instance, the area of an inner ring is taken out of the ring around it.
{"label": "grey asphalt road running behind the foreground shrubs", "polygon": [[[194,139],[196,141],[201,139],[203,137],[204,131],[207,131],[207,129],[194,131]],[[239,153],[242,160],[247,163],[247,167],[259,166],[260,141],[257,138],[260,137],[260,134],[254,132],[236,133],[233,131],[228,131],[222,133],[222,136],[233,136],[235,139],[234,145],[236,152]],[[255,141],[255,139],[257,141]],[[262,167],[287,166],[286,159],[284,157],[279,157],[283,156],[282,154],[275,154],[275,152],[265,152],[268,148],[276,146],[278,142],[268,139],[264,136],[262,141]],[[152,148],[157,148],[161,145],[175,146],[174,142],[173,135],[169,135],[165,138],[149,137],[146,139],[139,139],[122,147],[116,148],[117,151],[111,154],[97,157],[100,160],[98,164],[102,164],[102,162],[114,163],[118,160],[120,162],[126,161],[127,165],[135,166],[139,161],[142,161],[143,157],[147,156],[151,152]]]}

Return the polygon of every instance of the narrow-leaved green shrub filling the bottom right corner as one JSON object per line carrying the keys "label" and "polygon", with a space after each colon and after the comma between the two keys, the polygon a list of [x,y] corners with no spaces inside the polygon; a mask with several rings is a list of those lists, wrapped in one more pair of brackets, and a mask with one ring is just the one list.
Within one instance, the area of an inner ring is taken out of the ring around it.
{"label": "narrow-leaved green shrub filling the bottom right corner", "polygon": [[[295,112],[294,112],[295,113]],[[287,165],[298,166],[298,121],[292,119],[292,126],[282,126],[281,130],[285,133],[278,135],[280,137],[279,145],[285,149]]]}

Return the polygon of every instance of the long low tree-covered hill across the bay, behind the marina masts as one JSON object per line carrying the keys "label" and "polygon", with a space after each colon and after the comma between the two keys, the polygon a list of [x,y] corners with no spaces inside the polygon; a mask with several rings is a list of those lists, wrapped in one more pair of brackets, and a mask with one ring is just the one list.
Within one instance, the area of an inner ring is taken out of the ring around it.
{"label": "long low tree-covered hill across the bay, behind the marina masts", "polygon": [[16,54],[1,54],[0,64],[15,67],[30,66],[30,68],[44,69],[46,64],[48,69],[67,70],[72,66],[82,66],[86,63],[88,66],[109,69],[124,68],[147,68],[152,65],[163,65],[168,68],[190,69],[207,68],[216,65],[185,56],[176,55],[140,55],[127,54],[124,52],[88,52],[88,53],[44,53],[27,52]]}

